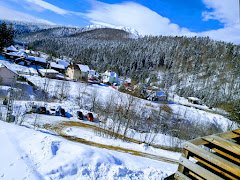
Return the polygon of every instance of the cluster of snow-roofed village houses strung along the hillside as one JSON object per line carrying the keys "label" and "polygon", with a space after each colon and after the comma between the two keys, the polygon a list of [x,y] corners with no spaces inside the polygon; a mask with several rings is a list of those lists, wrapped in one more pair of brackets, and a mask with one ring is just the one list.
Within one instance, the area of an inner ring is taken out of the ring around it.
{"label": "cluster of snow-roofed village houses strung along the hillside", "polygon": [[[104,73],[98,73],[94,69],[90,69],[86,64],[72,63],[70,58],[54,58],[42,52],[35,52],[25,49],[25,45],[16,44],[16,47],[11,45],[5,49],[4,56],[12,63],[23,66],[16,71],[11,66],[6,65],[6,68],[15,72],[19,76],[38,75],[50,79],[58,79],[65,81],[79,81],[91,84],[110,85],[118,89],[121,87],[126,93],[134,91],[137,87],[134,86],[129,77],[119,77],[116,72],[106,70]],[[14,74],[12,74],[12,78]],[[2,77],[3,84],[7,83],[6,77]],[[138,96],[151,101],[167,102],[167,93],[157,87],[146,86],[142,87]]]}

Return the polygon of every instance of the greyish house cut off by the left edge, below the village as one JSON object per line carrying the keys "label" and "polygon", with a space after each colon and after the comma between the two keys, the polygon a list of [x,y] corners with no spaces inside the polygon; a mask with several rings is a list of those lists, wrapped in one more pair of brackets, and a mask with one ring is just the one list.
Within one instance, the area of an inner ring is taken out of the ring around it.
{"label": "greyish house cut off by the left edge, below the village", "polygon": [[9,69],[5,64],[0,63],[0,84],[11,86],[16,83],[18,74]]}

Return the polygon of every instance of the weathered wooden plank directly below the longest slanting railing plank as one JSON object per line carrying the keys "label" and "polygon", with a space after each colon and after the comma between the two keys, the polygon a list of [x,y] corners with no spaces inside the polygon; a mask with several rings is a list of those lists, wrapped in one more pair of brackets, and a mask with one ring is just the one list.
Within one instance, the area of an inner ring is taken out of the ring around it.
{"label": "weathered wooden plank directly below the longest slanting railing plank", "polygon": [[180,163],[188,168],[190,171],[192,171],[193,173],[205,178],[205,179],[212,179],[212,180],[221,180],[222,178],[213,174],[212,172],[204,169],[203,167],[193,163],[192,161],[190,161],[189,159],[186,159],[184,157],[180,158]]}

